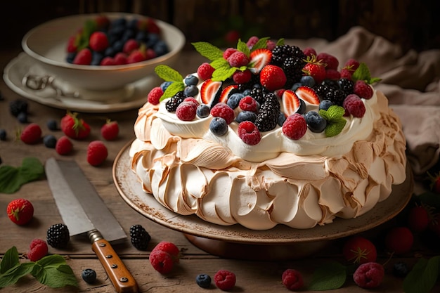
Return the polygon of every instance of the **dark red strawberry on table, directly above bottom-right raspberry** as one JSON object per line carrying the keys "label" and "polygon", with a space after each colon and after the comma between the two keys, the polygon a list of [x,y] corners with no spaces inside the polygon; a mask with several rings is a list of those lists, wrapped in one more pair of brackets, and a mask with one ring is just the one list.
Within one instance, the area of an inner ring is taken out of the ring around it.
{"label": "dark red strawberry on table, directly above bottom-right raspberry", "polygon": [[358,235],[350,237],[344,243],[342,254],[344,259],[351,263],[369,263],[377,259],[377,250],[373,242]]}

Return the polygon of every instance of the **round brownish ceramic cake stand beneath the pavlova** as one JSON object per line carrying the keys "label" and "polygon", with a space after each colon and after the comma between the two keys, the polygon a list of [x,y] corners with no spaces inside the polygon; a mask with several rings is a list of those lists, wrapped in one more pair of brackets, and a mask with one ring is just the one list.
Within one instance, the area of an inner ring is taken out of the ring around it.
{"label": "round brownish ceramic cake stand beneath the pavlova", "polygon": [[323,249],[331,240],[370,230],[394,218],[406,207],[413,190],[408,164],[406,181],[394,185],[392,194],[375,208],[355,219],[335,219],[311,229],[278,225],[270,230],[250,230],[240,225],[219,226],[198,216],[182,216],[162,207],[153,195],[145,193],[131,170],[129,147],[120,150],[113,164],[113,179],[122,199],[131,208],[162,226],[183,233],[196,247],[231,259],[299,259]]}

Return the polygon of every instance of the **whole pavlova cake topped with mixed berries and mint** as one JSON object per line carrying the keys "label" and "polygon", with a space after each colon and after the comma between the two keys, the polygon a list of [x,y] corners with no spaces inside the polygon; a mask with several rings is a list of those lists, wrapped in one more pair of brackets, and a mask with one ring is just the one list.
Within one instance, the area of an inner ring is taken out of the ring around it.
{"label": "whole pavlova cake topped with mixed berries and mint", "polygon": [[312,228],[351,219],[406,179],[406,140],[368,67],[252,37],[164,82],[138,111],[131,168],[145,193],[223,226]]}

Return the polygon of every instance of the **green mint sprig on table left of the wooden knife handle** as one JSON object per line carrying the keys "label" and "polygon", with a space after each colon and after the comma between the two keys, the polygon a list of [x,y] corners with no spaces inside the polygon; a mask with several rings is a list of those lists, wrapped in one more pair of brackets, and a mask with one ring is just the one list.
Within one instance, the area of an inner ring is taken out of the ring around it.
{"label": "green mint sprig on table left of the wooden knife handle", "polygon": [[75,274],[63,256],[51,254],[39,261],[20,263],[17,248],[14,246],[8,249],[0,262],[0,288],[14,285],[28,274],[48,287],[60,288],[67,285],[78,287]]}

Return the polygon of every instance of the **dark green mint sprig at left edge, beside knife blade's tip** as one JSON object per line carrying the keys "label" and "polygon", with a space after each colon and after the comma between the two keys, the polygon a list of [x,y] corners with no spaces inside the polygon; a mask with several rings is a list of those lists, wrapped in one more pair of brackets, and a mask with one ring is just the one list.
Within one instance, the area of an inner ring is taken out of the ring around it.
{"label": "dark green mint sprig at left edge, beside knife blade's tip", "polygon": [[43,164],[35,157],[25,157],[20,167],[0,167],[0,193],[15,193],[25,183],[36,181],[44,174]]}

